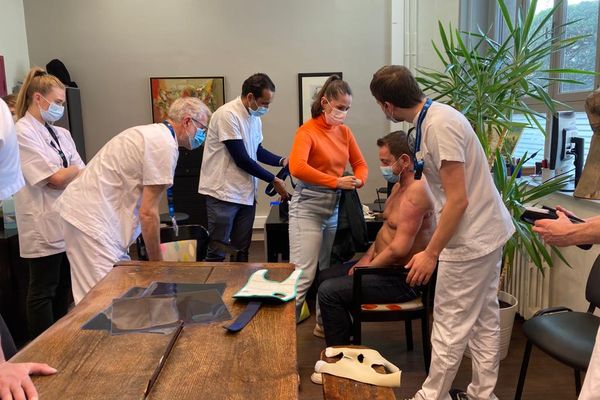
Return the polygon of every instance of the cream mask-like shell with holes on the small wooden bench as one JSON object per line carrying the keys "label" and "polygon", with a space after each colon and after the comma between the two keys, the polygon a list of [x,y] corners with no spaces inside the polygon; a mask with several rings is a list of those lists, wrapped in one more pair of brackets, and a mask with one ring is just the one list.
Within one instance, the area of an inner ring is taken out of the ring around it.
{"label": "cream mask-like shell with holes on the small wooden bench", "polygon": [[[315,373],[311,380],[315,383],[321,383],[322,377],[320,374],[326,373],[371,385],[400,387],[402,372],[376,350],[346,347],[328,347],[325,349],[327,357],[335,357],[340,354],[342,354],[342,359],[335,363],[328,363],[323,360],[317,361]],[[373,368],[378,365],[383,366],[386,373],[379,373]]]}

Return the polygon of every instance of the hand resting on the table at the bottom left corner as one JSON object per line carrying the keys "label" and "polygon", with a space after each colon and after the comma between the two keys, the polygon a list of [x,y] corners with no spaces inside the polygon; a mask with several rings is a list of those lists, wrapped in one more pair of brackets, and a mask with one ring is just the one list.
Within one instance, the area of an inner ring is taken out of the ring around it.
{"label": "hand resting on the table at the bottom left corner", "polygon": [[29,375],[52,375],[48,364],[0,363],[0,400],[37,400],[38,393]]}

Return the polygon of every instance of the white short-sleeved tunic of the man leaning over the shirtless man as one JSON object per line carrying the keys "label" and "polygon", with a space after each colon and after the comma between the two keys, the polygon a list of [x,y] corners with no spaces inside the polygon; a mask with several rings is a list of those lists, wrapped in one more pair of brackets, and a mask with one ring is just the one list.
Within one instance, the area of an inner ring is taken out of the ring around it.
{"label": "white short-sleeved tunic of the man leaning over the shirtless man", "polygon": [[[416,125],[418,115],[413,123]],[[515,228],[494,185],[487,158],[469,121],[454,108],[433,102],[423,121],[421,151],[437,219],[446,203],[442,161],[464,163],[469,205],[456,232],[440,254],[442,261],[465,261],[490,254],[510,238]]]}

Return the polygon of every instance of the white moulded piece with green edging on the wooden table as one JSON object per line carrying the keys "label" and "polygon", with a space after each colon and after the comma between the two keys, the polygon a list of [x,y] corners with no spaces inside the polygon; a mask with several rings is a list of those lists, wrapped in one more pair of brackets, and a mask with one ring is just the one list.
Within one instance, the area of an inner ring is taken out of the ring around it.
{"label": "white moulded piece with green edging on the wooden table", "polygon": [[236,294],[236,299],[273,298],[289,301],[296,298],[296,287],[302,270],[295,270],[283,282],[265,278],[268,270],[259,269],[248,279],[248,283]]}

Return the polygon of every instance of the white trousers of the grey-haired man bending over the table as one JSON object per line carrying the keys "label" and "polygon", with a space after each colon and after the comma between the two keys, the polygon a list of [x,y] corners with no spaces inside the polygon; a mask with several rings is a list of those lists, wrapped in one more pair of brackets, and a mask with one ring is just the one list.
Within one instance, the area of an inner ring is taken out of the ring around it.
{"label": "white trousers of the grey-haired man bending over the table", "polygon": [[129,260],[127,251],[104,244],[65,221],[65,247],[71,264],[73,299],[78,304],[121,260]]}

